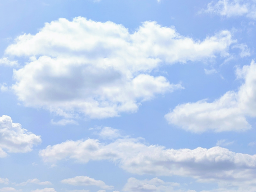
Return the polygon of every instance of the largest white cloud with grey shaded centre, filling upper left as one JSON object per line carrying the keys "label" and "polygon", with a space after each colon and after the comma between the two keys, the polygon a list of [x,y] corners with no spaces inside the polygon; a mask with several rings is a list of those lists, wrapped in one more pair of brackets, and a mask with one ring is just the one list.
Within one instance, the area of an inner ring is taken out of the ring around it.
{"label": "largest white cloud with grey shaded centre, filling upper left", "polygon": [[228,56],[234,42],[229,31],[199,41],[156,22],[144,22],[130,33],[110,21],[77,17],[18,36],[5,55],[29,58],[14,70],[12,85],[26,106],[43,107],[65,119],[106,118],[136,112],[141,102],[181,89],[179,83],[151,75],[160,65]]}

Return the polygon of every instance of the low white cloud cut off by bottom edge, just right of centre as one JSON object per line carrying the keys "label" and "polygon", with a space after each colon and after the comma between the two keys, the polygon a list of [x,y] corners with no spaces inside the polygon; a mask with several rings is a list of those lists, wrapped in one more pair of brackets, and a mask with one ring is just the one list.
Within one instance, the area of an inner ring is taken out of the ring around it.
{"label": "low white cloud cut off by bottom edge, just right of centre", "polygon": [[124,192],[170,192],[178,183],[164,182],[158,178],[151,180],[137,180],[129,178],[122,191]]}

